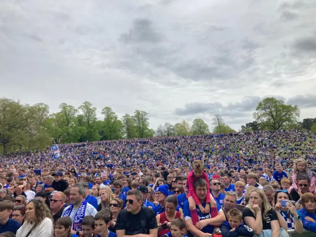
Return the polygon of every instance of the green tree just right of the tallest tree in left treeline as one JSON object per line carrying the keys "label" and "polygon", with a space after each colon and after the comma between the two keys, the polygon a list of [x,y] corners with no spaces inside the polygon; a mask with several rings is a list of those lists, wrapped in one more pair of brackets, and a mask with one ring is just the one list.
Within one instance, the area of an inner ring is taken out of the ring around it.
{"label": "green tree just right of the tallest tree in left treeline", "polygon": [[104,107],[102,112],[103,120],[103,136],[105,140],[116,140],[122,137],[122,122],[110,107]]}

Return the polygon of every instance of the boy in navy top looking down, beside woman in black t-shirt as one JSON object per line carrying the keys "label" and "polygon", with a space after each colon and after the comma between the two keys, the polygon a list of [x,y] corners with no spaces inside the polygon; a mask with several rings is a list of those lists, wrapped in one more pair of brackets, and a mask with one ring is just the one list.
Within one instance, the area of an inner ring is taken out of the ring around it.
{"label": "boy in navy top looking down, beside woman in black t-shirt", "polygon": [[223,237],[254,236],[254,231],[242,223],[242,213],[236,208],[227,213],[228,222],[221,227]]}

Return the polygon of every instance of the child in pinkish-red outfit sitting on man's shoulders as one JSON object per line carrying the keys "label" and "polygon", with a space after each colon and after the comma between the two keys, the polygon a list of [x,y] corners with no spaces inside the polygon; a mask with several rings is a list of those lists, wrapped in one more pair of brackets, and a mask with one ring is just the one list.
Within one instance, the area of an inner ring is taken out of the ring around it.
{"label": "child in pinkish-red outfit sitting on man's shoulders", "polygon": [[[190,208],[192,222],[193,222],[193,225],[196,225],[197,222],[199,221],[196,205],[198,206],[200,211],[204,214],[209,213],[209,208],[211,205],[212,218],[218,215],[218,210],[217,210],[216,201],[214,200],[213,197],[211,197],[210,192],[209,192],[208,175],[204,172],[204,162],[202,160],[193,161],[192,169],[193,171],[189,173],[188,181],[187,181],[187,185],[189,186],[188,187],[188,190],[189,190],[188,201],[189,201],[189,208]],[[196,181],[198,178],[204,179],[207,184],[207,194],[206,194],[207,205],[205,206],[205,209],[200,203],[200,201],[198,200],[195,189],[194,189],[194,181]]]}

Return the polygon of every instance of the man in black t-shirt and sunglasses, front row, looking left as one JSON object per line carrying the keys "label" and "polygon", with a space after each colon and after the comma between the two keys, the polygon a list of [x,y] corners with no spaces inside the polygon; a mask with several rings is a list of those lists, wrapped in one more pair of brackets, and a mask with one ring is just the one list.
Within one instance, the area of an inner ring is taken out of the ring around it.
{"label": "man in black t-shirt and sunglasses, front row, looking left", "polygon": [[142,206],[143,195],[139,190],[127,192],[126,208],[118,213],[118,237],[157,237],[158,225],[152,208]]}

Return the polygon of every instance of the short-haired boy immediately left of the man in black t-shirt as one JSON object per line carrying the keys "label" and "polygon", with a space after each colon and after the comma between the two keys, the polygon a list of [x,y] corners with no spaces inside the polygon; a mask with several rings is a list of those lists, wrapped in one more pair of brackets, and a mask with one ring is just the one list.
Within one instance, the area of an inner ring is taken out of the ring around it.
{"label": "short-haired boy immediately left of the man in black t-shirt", "polygon": [[108,211],[101,210],[94,216],[95,230],[97,237],[117,237],[117,234],[109,231],[111,215]]}

